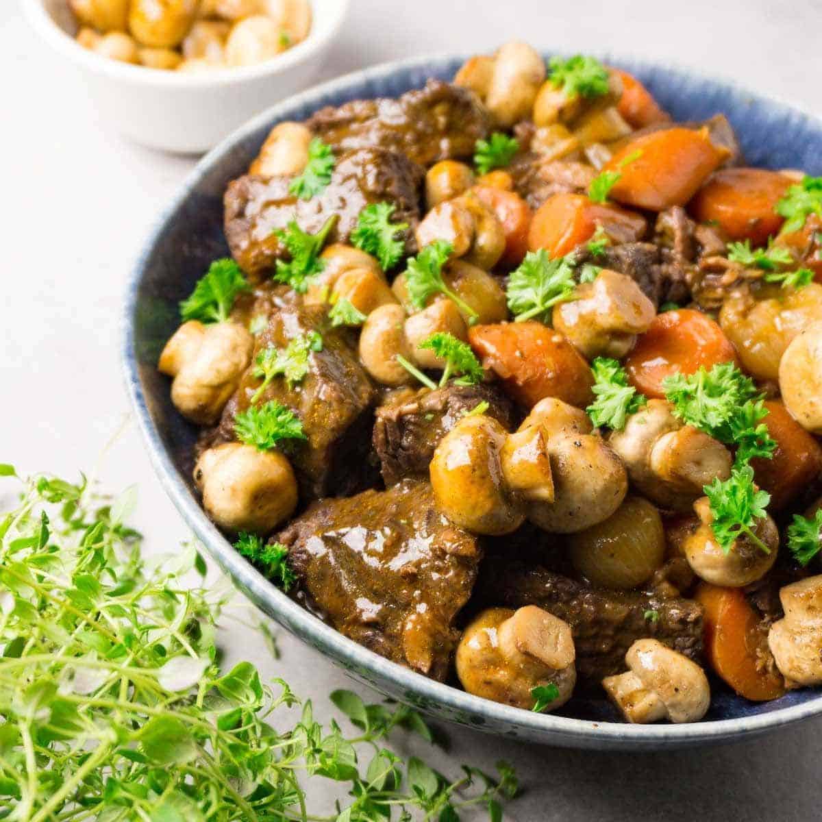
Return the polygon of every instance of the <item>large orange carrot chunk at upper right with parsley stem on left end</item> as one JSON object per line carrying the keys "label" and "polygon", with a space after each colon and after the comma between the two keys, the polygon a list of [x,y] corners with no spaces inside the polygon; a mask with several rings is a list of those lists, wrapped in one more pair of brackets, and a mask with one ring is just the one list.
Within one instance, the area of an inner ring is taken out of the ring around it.
{"label": "large orange carrot chunk at upper right with parsley stem on left end", "polygon": [[685,205],[726,159],[706,127],[673,127],[642,134],[622,146],[603,171],[618,173],[610,196],[651,211]]}

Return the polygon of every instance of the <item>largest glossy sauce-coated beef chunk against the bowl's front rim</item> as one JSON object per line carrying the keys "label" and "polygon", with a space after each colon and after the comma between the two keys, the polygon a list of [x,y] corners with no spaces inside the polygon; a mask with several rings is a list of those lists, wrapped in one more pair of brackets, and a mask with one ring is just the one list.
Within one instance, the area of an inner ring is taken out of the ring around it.
{"label": "largest glossy sauce-coated beef chunk against the bowl's front rim", "polygon": [[297,598],[318,617],[381,656],[446,678],[480,552],[437,512],[428,483],[316,502],[274,539],[289,547]]}

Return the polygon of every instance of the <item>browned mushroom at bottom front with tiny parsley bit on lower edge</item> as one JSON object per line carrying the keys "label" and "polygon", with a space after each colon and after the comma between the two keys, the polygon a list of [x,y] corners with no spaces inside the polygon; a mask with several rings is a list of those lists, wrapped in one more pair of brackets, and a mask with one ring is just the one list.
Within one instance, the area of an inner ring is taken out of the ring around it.
{"label": "browned mushroom at bottom front with tiny parsley bit on lower edge", "polygon": [[570,627],[535,605],[489,608],[465,629],[456,653],[459,681],[469,694],[531,709],[532,690],[554,686],[546,709],[561,707],[576,682]]}

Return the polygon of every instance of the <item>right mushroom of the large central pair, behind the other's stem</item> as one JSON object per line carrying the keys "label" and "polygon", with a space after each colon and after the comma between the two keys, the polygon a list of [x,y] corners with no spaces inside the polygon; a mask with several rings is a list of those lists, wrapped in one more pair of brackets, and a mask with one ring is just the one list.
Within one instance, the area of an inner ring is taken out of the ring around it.
{"label": "right mushroom of the large central pair, behind the other's stem", "polygon": [[520,426],[543,431],[551,462],[554,498],[529,506],[528,518],[552,533],[575,533],[607,520],[628,491],[620,459],[601,436],[592,434],[588,415],[561,399],[541,399]]}

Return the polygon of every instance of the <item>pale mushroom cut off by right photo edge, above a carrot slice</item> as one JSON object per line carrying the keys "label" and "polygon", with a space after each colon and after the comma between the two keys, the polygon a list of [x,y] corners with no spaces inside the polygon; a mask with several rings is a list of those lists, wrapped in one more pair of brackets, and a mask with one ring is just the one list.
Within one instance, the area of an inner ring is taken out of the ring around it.
{"label": "pale mushroom cut off by right photo edge, above a carrot slice", "polygon": [[822,434],[822,322],[795,337],[779,362],[779,390],[797,423]]}

